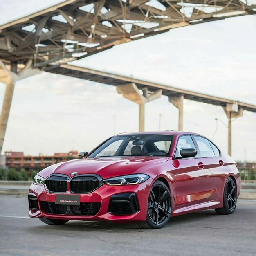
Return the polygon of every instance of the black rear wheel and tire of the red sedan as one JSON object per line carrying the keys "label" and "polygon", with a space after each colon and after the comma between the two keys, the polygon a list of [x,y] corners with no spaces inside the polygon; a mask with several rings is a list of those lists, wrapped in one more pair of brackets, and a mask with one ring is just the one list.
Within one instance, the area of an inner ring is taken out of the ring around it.
{"label": "black rear wheel and tire of the red sedan", "polygon": [[224,187],[223,207],[216,208],[216,213],[222,215],[233,213],[236,209],[236,199],[236,183],[231,177],[229,177]]}

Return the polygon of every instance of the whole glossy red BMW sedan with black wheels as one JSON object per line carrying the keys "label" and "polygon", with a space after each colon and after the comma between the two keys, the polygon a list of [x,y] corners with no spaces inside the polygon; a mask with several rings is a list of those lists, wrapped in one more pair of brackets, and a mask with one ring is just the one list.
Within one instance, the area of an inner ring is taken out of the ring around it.
{"label": "whole glossy red BMW sedan with black wheels", "polygon": [[236,209],[241,179],[234,160],[195,133],[115,135],[90,153],[40,171],[29,189],[29,216],[49,225],[69,220],[138,222],[161,228],[171,216]]}

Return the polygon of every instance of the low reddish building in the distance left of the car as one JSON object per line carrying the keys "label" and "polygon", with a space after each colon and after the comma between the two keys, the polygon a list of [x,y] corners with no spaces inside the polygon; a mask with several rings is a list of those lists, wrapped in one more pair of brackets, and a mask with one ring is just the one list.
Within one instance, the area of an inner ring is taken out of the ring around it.
{"label": "low reddish building in the distance left of the car", "polygon": [[68,153],[54,153],[54,155],[43,155],[37,156],[24,155],[23,152],[6,151],[2,156],[2,162],[5,160],[5,164],[8,168],[24,168],[29,169],[42,169],[52,164],[59,162],[76,159],[78,151],[70,151]]}

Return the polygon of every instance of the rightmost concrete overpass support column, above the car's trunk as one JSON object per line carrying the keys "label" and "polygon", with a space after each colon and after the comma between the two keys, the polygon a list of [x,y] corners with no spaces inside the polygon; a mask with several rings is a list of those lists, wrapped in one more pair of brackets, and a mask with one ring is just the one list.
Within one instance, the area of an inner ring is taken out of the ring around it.
{"label": "rightmost concrete overpass support column, above the car's trunk", "polygon": [[242,117],[243,108],[238,108],[238,103],[227,103],[223,110],[228,118],[228,154],[232,155],[232,118]]}

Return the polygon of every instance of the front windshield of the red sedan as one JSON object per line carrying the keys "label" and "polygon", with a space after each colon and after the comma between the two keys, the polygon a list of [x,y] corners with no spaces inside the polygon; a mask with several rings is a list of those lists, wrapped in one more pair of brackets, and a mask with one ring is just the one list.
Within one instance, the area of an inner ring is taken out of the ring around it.
{"label": "front windshield of the red sedan", "polygon": [[172,135],[135,134],[112,137],[89,157],[109,156],[168,156]]}

